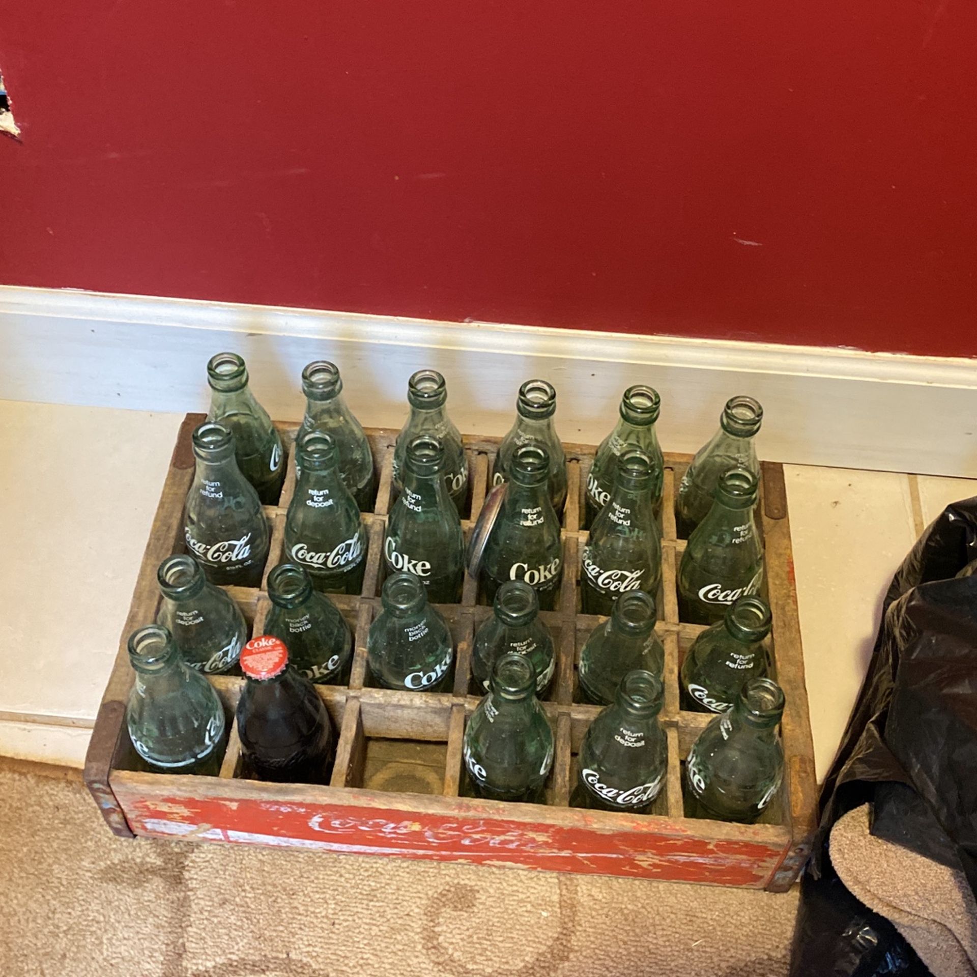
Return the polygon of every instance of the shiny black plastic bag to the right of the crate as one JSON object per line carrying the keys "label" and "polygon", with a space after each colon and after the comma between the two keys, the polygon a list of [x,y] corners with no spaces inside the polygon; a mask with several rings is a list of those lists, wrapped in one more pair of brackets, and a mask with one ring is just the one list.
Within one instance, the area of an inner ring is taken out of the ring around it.
{"label": "shiny black plastic bag to the right of the crate", "polygon": [[871,801],[872,834],[959,869],[977,893],[977,497],[948,506],[892,580],[865,683],[821,794],[791,977],[926,974],[844,889],[828,834]]}

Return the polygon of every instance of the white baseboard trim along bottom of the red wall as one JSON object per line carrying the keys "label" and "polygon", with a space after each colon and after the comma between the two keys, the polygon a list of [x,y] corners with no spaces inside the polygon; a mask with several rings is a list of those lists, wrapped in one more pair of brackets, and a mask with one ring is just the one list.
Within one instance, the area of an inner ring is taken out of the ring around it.
{"label": "white baseboard trim along bottom of the red wall", "polygon": [[666,449],[695,450],[727,398],[748,393],[764,405],[763,457],[977,476],[977,360],[0,286],[2,399],[206,409],[204,364],[224,349],[282,419],[301,416],[299,374],[316,359],[336,361],[362,423],[384,427],[403,422],[422,366],[446,375],[458,427],[489,434],[542,376],[566,441],[599,441],[641,382],[661,394]]}

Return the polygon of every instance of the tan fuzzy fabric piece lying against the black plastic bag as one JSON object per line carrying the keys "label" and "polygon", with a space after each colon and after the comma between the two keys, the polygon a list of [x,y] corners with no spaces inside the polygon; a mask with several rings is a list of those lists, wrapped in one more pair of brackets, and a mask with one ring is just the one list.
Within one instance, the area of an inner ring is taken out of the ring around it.
{"label": "tan fuzzy fabric piece lying against the black plastic bag", "polygon": [[830,853],[849,891],[889,919],[935,977],[977,975],[977,904],[961,872],[872,837],[868,804],[831,828]]}

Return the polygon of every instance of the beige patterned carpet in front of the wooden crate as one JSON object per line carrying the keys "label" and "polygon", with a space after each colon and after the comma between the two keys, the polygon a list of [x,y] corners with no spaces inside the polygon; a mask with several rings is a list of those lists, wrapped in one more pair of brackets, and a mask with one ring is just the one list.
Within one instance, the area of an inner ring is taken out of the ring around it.
{"label": "beige patterned carpet in front of the wooden crate", "polygon": [[766,977],[796,892],[125,841],[0,760],[3,977]]}

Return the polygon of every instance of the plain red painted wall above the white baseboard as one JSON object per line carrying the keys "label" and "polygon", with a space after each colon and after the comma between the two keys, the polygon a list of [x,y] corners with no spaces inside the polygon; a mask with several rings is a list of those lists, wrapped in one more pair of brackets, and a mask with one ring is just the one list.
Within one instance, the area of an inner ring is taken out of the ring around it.
{"label": "plain red painted wall above the white baseboard", "polygon": [[967,0],[0,20],[0,281],[977,354]]}

